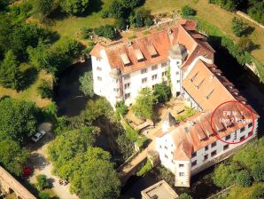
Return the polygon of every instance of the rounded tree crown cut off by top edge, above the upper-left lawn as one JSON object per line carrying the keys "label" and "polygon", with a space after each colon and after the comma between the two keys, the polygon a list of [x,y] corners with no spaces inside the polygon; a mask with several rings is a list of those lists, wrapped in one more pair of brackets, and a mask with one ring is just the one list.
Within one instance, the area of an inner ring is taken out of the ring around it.
{"label": "rounded tree crown cut off by top edge, above the upper-left lawn", "polygon": [[87,11],[89,0],[61,0],[60,6],[64,12],[78,15]]}

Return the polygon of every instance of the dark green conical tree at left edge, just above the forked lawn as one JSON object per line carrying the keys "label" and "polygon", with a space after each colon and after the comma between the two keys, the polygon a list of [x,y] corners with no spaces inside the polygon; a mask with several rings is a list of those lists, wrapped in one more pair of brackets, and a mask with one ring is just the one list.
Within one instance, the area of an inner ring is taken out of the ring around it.
{"label": "dark green conical tree at left edge, just above the forked lawn", "polygon": [[19,61],[12,51],[8,51],[0,65],[0,84],[6,88],[19,90],[21,80],[22,73],[19,70]]}

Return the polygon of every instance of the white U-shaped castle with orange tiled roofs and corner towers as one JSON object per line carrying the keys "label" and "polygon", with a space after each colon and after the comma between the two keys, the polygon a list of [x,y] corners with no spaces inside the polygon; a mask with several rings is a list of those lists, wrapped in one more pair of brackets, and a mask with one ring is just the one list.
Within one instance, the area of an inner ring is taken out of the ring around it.
{"label": "white U-shaped castle with orange tiled roofs and corner towers", "polygon": [[[179,20],[132,41],[97,44],[90,52],[94,92],[113,107],[119,100],[129,106],[141,89],[170,81],[173,96],[188,100],[190,107],[199,110],[181,123],[167,113],[156,133],[160,163],[175,174],[178,187],[189,187],[192,175],[257,137],[259,115],[245,108],[250,107],[245,98],[214,65],[214,49],[196,31],[197,25],[193,20]],[[226,101],[241,103],[221,106],[212,119],[214,109]],[[227,110],[237,113],[235,121],[228,120],[231,115],[219,114]],[[229,122],[221,122],[221,117]],[[252,118],[252,122],[236,122],[245,118]],[[215,133],[224,141],[217,139]]]}

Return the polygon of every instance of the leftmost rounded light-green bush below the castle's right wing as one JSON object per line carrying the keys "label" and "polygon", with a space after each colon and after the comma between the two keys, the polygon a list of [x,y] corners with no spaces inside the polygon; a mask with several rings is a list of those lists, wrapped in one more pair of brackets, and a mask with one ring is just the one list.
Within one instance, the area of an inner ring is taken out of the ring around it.
{"label": "leftmost rounded light-green bush below the castle's right wing", "polygon": [[214,184],[218,187],[225,188],[234,184],[234,181],[237,178],[238,166],[234,163],[224,164],[221,163],[214,170]]}

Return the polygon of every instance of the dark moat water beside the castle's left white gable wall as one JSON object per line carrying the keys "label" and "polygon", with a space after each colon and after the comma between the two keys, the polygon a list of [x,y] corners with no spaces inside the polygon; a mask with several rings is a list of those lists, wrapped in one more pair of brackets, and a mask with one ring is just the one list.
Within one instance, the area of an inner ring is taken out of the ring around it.
{"label": "dark moat water beside the castle's left white gable wall", "polygon": [[66,68],[59,76],[54,88],[54,98],[58,106],[58,115],[79,115],[85,109],[87,97],[79,90],[79,78],[91,69],[91,62],[76,63]]}

